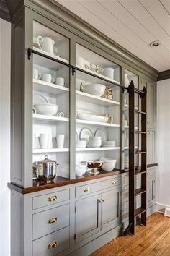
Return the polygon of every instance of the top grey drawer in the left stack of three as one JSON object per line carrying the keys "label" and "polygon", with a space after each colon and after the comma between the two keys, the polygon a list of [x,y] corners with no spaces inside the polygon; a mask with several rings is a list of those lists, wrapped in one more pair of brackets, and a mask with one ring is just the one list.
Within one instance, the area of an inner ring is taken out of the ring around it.
{"label": "top grey drawer in the left stack of three", "polygon": [[40,195],[33,197],[32,199],[32,208],[33,210],[48,205],[55,205],[55,203],[62,202],[64,200],[70,199],[70,190],[65,189],[58,192],[49,193],[46,195]]}

